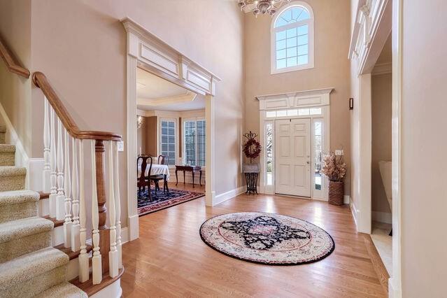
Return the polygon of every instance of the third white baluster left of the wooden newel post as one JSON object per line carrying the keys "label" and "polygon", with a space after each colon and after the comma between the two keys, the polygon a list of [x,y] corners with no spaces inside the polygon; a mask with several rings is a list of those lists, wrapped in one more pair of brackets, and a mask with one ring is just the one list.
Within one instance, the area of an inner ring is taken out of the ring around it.
{"label": "third white baluster left of the wooden newel post", "polygon": [[80,250],[79,241],[79,192],[78,192],[78,144],[76,139],[73,139],[73,170],[71,172],[71,194],[73,195],[73,225],[71,225],[71,251]]}

